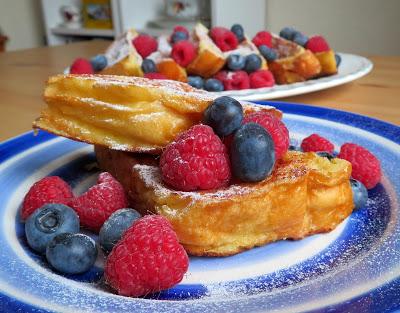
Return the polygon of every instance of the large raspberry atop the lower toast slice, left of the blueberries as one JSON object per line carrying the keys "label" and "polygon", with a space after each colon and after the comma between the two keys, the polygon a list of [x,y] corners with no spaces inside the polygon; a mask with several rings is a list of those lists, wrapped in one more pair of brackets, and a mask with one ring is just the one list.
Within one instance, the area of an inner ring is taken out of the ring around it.
{"label": "large raspberry atop the lower toast slice, left of the blueberries", "polygon": [[195,125],[169,144],[160,169],[167,184],[183,191],[226,186],[231,177],[226,148],[207,125]]}

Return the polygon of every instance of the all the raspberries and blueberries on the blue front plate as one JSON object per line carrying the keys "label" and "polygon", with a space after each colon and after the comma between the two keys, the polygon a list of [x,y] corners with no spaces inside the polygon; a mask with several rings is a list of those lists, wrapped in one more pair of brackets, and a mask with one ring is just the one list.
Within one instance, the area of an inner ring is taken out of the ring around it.
{"label": "all the raspberries and blueberries on the blue front plate", "polygon": [[[210,104],[201,124],[165,148],[159,167],[164,183],[175,190],[218,189],[264,180],[288,150],[349,161],[357,209],[381,178],[379,160],[367,149],[345,143],[335,154],[334,145],[318,134],[304,138],[300,147],[289,146],[289,131],[278,117],[265,111],[246,115],[237,100],[225,96]],[[169,221],[129,208],[122,185],[107,172],[79,196],[60,177],[45,177],[30,188],[20,213],[28,245],[60,274],[88,271],[100,246],[106,255],[104,280],[120,295],[171,288],[188,270],[188,256]],[[98,233],[98,243],[82,229]]]}

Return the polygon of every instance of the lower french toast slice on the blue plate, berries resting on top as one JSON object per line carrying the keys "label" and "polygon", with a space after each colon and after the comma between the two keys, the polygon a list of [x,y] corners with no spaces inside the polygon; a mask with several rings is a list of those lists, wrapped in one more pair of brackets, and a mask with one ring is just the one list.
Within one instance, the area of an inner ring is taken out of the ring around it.
{"label": "lower french toast slice on the blue plate, berries resting on top", "polygon": [[351,164],[289,151],[271,176],[225,189],[183,192],[166,186],[158,160],[95,147],[100,167],[125,188],[142,214],[173,225],[189,254],[228,256],[281,239],[328,232],[353,210]]}

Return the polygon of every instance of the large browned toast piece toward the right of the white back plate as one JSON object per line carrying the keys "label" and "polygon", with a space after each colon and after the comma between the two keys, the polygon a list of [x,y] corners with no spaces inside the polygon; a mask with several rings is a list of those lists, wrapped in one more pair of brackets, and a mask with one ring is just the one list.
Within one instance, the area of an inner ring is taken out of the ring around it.
{"label": "large browned toast piece toward the right of the white back plate", "polygon": [[278,84],[302,82],[321,73],[321,64],[310,50],[278,36],[272,36],[272,48],[278,59],[269,63],[269,69]]}

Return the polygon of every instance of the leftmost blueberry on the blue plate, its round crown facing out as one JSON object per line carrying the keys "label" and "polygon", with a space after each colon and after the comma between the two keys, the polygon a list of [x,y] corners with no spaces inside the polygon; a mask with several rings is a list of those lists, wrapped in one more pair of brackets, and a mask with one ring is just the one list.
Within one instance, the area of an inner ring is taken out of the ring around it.
{"label": "leftmost blueberry on the blue plate, its round crown facing out", "polygon": [[78,215],[73,209],[63,204],[45,204],[33,212],[25,223],[28,244],[40,253],[45,253],[47,244],[58,234],[78,231]]}

